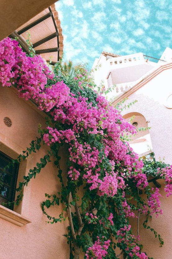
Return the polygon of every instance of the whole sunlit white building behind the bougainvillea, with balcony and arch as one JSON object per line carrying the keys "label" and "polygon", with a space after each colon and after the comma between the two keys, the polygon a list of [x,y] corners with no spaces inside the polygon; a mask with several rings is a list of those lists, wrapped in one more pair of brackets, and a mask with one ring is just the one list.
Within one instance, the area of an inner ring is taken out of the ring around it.
{"label": "whole sunlit white building behind the bougainvillea, with balcony and arch", "polygon": [[166,48],[160,59],[142,53],[119,56],[102,52],[94,68],[97,85],[102,82],[105,90],[115,85],[107,95],[113,105],[126,98],[126,105],[137,100],[123,109],[123,117],[129,120],[134,115],[132,123],[137,122],[137,128],[151,128],[132,137],[134,151],[142,155],[153,150],[157,160],[165,157],[172,164],[172,49]]}

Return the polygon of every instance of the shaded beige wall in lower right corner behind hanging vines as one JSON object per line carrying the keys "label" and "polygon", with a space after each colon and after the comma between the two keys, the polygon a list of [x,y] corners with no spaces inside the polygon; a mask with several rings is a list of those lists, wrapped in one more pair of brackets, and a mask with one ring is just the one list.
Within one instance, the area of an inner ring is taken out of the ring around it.
{"label": "shaded beige wall in lower right corner behind hanging vines", "polygon": [[[156,218],[155,215],[149,220],[148,226],[151,226],[155,231],[160,234],[164,240],[164,245],[160,247],[158,237],[155,238],[150,229],[143,227],[143,222],[146,219],[145,215],[140,215],[139,235],[140,243],[143,244],[142,252],[146,252],[149,257],[154,259],[171,259],[172,258],[172,197],[166,197],[164,191],[164,184],[161,180],[160,193],[163,196],[161,200],[161,209],[163,214]],[[143,195],[142,195],[143,197]],[[133,233],[137,235],[137,219],[131,220]],[[122,258],[121,258],[122,259]]]}

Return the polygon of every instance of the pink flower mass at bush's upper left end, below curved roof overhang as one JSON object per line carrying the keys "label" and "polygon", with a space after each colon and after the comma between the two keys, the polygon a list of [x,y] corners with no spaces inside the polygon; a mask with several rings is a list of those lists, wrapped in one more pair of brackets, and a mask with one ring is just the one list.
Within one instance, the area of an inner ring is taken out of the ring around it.
{"label": "pink flower mass at bush's upper left end, below curved roof overhang", "polygon": [[20,97],[35,99],[53,74],[41,56],[29,57],[18,46],[18,42],[5,38],[0,42],[0,79],[2,86],[17,82]]}

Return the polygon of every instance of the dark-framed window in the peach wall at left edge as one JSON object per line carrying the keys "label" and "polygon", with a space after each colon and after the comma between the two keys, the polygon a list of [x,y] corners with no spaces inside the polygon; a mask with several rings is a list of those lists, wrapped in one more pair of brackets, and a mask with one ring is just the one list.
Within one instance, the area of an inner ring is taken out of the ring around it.
{"label": "dark-framed window in the peach wall at left edge", "polygon": [[[14,164],[14,166],[2,171],[9,162],[12,162],[12,159],[0,152],[0,181],[2,183],[2,185],[0,184],[0,204],[12,202],[15,198],[19,164]],[[14,205],[6,207],[13,209]]]}

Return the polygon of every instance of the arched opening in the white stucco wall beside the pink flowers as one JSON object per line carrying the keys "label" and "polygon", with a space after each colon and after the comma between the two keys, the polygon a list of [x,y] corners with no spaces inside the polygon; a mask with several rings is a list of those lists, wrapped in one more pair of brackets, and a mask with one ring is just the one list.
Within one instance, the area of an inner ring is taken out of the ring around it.
{"label": "arched opening in the white stucco wall beside the pink flowers", "polygon": [[146,118],[138,112],[127,113],[123,115],[123,118],[130,121],[137,128],[137,134],[130,137],[130,146],[139,156],[147,156],[153,150]]}

